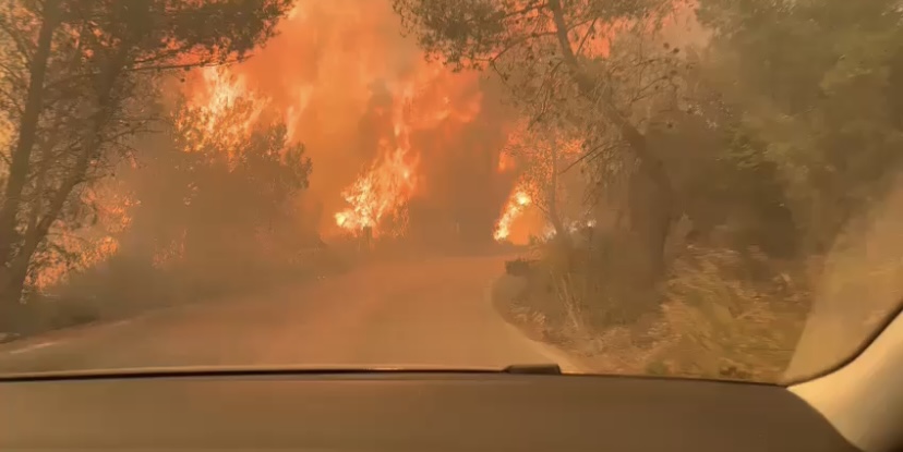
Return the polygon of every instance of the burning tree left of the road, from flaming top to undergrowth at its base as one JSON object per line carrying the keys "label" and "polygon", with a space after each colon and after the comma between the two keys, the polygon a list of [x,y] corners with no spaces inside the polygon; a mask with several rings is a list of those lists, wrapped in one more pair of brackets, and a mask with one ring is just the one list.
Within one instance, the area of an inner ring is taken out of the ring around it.
{"label": "burning tree left of the road, from flaming top to undergrowth at its base", "polygon": [[131,309],[260,289],[323,261],[310,211],[297,205],[311,172],[304,146],[281,118],[261,114],[270,100],[230,70],[188,78],[166,133],[117,174],[120,192],[140,201],[118,252],[59,293]]}

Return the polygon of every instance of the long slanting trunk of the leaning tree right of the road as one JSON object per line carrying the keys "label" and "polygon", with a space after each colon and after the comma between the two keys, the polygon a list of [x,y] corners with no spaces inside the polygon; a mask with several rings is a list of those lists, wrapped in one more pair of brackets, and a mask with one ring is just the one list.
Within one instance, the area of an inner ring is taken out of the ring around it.
{"label": "long slanting trunk of the leaning tree right of the road", "polygon": [[[549,0],[555,23],[555,33],[561,47],[564,62],[570,71],[574,82],[581,96],[598,102],[597,84],[583,71],[570,47],[567,36],[567,24],[561,0]],[[658,280],[664,271],[665,240],[672,223],[672,186],[661,159],[649,150],[646,136],[625,118],[617,108],[609,102],[598,102],[602,113],[621,133],[634,157],[637,159],[637,174],[628,184],[629,217],[631,229],[643,241],[643,254],[647,260],[650,282]]]}

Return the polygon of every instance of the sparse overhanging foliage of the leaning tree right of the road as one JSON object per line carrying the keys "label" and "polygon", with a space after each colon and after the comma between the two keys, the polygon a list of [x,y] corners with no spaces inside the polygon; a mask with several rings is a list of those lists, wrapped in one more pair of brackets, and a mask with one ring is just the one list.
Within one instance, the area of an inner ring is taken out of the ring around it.
{"label": "sparse overhanging foliage of the leaning tree right of the road", "polygon": [[[604,114],[594,103],[629,109],[660,89],[657,82],[671,69],[664,64],[676,54],[671,49],[650,52],[650,47],[638,51],[636,39],[628,42],[666,13],[667,2],[661,0],[393,0],[393,5],[429,59],[455,70],[491,70],[531,122],[579,133],[603,129],[598,123]],[[561,30],[551,20],[557,13],[565,24]],[[602,49],[615,35],[625,36],[618,39],[629,49],[603,63]],[[575,70],[587,72],[594,86],[578,94]]]}

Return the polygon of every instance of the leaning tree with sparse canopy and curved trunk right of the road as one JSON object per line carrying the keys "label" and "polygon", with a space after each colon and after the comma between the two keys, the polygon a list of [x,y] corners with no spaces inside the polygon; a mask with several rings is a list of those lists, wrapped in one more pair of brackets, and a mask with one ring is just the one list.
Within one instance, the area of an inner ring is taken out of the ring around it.
{"label": "leaning tree with sparse canopy and curved trunk right of the road", "polygon": [[[643,240],[649,279],[663,270],[662,255],[673,217],[672,186],[641,127],[641,106],[672,84],[665,51],[612,57],[616,35],[654,32],[671,2],[619,0],[394,0],[406,27],[431,58],[456,70],[491,69],[531,121],[580,124],[590,147],[611,149],[618,138],[624,168],[636,168],[629,185],[630,228]],[[625,39],[626,41],[626,39]],[[639,39],[642,41],[642,39]],[[641,46],[642,42],[631,42]]]}

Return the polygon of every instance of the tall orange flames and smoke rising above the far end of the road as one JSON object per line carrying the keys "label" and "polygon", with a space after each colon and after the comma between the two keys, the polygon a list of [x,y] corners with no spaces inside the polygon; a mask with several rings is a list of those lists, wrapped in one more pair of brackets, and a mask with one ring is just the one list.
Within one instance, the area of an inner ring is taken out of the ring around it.
{"label": "tall orange flames and smoke rising above the far end of the road", "polygon": [[511,123],[496,85],[426,62],[389,2],[301,0],[279,30],[230,72],[306,145],[324,236],[491,240],[514,176],[496,170]]}

